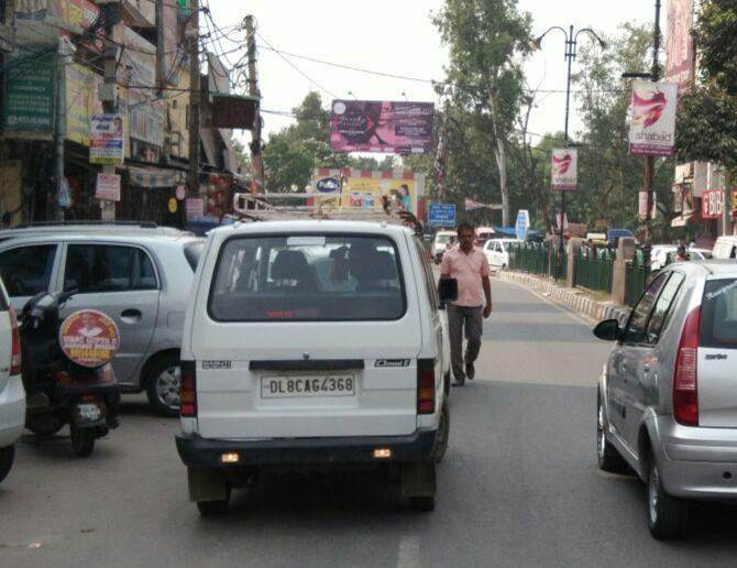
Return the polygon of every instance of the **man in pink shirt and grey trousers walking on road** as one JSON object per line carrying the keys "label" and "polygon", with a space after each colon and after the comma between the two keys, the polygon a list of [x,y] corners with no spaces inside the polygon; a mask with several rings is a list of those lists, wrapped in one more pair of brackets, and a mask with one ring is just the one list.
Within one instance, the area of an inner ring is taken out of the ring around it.
{"label": "man in pink shirt and grey trousers walking on road", "polygon": [[[462,223],[458,228],[459,247],[449,249],[442,258],[440,278],[458,281],[458,299],[448,306],[451,365],[455,384],[462,386],[465,379],[473,381],[474,367],[481,350],[484,319],[492,315],[492,284],[486,255],[473,245],[474,228]],[[484,305],[481,291],[484,291]],[[468,341],[463,357],[463,331]]]}

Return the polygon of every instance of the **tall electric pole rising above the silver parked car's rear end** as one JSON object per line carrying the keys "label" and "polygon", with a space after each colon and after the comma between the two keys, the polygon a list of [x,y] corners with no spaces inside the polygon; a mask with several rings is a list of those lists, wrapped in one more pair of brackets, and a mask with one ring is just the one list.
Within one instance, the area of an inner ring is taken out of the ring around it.
{"label": "tall electric pole rising above the silver parked car's rear end", "polygon": [[[199,197],[199,127],[201,80],[199,74],[199,0],[191,0],[189,40],[189,175],[187,197]],[[183,225],[187,220],[187,207],[182,208]]]}

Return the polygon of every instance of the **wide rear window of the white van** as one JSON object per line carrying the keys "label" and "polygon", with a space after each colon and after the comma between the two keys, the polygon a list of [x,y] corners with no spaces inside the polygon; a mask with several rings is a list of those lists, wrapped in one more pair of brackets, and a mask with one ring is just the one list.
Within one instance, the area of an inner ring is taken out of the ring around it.
{"label": "wide rear window of the white van", "polygon": [[221,251],[210,288],[217,321],[395,320],[406,294],[386,237],[237,237]]}

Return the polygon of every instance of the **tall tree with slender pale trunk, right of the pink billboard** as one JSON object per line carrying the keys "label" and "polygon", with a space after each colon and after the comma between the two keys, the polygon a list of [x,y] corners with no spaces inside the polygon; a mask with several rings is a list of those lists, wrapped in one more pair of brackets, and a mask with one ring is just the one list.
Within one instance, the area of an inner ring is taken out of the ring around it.
{"label": "tall tree with slender pale trunk, right of the pink billboard", "polygon": [[447,81],[453,85],[453,105],[471,111],[463,117],[472,123],[469,138],[474,140],[468,142],[486,146],[495,159],[502,221],[508,226],[507,140],[524,96],[530,17],[520,14],[514,0],[447,0],[433,21],[450,50]]}

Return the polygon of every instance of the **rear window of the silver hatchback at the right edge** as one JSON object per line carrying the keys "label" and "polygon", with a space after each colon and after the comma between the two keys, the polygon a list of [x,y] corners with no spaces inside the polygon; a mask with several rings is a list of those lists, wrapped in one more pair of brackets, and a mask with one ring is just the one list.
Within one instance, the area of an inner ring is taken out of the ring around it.
{"label": "rear window of the silver hatchback at the right edge", "polygon": [[706,282],[701,312],[700,345],[737,349],[737,280]]}

